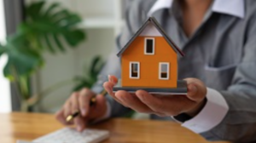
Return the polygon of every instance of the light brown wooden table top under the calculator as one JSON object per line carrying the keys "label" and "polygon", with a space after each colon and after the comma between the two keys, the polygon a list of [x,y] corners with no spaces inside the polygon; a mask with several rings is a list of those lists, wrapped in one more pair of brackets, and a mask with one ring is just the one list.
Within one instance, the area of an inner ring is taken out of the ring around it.
{"label": "light brown wooden table top under the calculator", "polygon": [[[33,140],[62,127],[50,114],[0,114],[0,142]],[[172,122],[114,118],[90,128],[110,131],[110,138],[103,143],[207,143],[200,135]]]}

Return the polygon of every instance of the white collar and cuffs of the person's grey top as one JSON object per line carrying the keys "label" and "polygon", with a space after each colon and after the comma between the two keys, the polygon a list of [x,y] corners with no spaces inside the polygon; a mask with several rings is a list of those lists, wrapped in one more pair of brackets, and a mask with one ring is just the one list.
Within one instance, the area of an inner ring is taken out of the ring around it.
{"label": "white collar and cuffs of the person's grey top", "polygon": [[[173,0],[158,0],[149,10],[148,16],[160,9],[170,9]],[[221,14],[230,14],[238,18],[244,18],[245,3],[243,0],[215,0],[212,3],[212,11]],[[111,106],[108,104],[108,112],[103,118],[110,117]],[[194,131],[195,133],[203,133],[213,129],[222,122],[229,106],[224,100],[222,94],[215,89],[207,88],[207,104],[198,115],[182,124],[183,127]],[[102,119],[103,119],[102,118]]]}

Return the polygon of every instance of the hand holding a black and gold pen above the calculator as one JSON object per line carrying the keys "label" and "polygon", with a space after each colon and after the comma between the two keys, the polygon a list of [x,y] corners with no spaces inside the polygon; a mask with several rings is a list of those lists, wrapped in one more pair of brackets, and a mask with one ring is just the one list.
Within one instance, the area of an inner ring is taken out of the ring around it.
{"label": "hand holding a black and gold pen above the calculator", "polygon": [[90,89],[82,89],[73,93],[57,112],[56,119],[64,125],[75,125],[78,131],[86,128],[87,122],[103,117],[107,112],[107,102],[104,95],[95,94]]}

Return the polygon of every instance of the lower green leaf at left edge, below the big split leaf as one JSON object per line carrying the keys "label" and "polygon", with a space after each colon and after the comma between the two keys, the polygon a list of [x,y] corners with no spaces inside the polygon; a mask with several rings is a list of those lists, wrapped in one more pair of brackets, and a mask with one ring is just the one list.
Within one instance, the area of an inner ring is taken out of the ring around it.
{"label": "lower green leaf at left edge, below the big split leaf", "polygon": [[7,41],[5,54],[8,55],[8,61],[3,69],[3,75],[10,80],[14,76],[26,77],[43,65],[43,59],[37,51],[28,49],[23,37],[10,37]]}

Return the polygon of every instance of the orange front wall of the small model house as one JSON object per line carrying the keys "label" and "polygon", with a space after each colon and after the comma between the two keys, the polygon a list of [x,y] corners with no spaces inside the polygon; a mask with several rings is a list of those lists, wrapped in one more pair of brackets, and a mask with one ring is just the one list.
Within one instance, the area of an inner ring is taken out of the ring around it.
{"label": "orange front wall of the small model house", "polygon": [[[154,55],[144,54],[144,38],[137,37],[122,54],[122,86],[176,88],[177,87],[177,54],[164,37],[154,37]],[[131,79],[130,61],[140,62],[140,78]],[[169,62],[169,80],[159,79],[159,63]]]}

